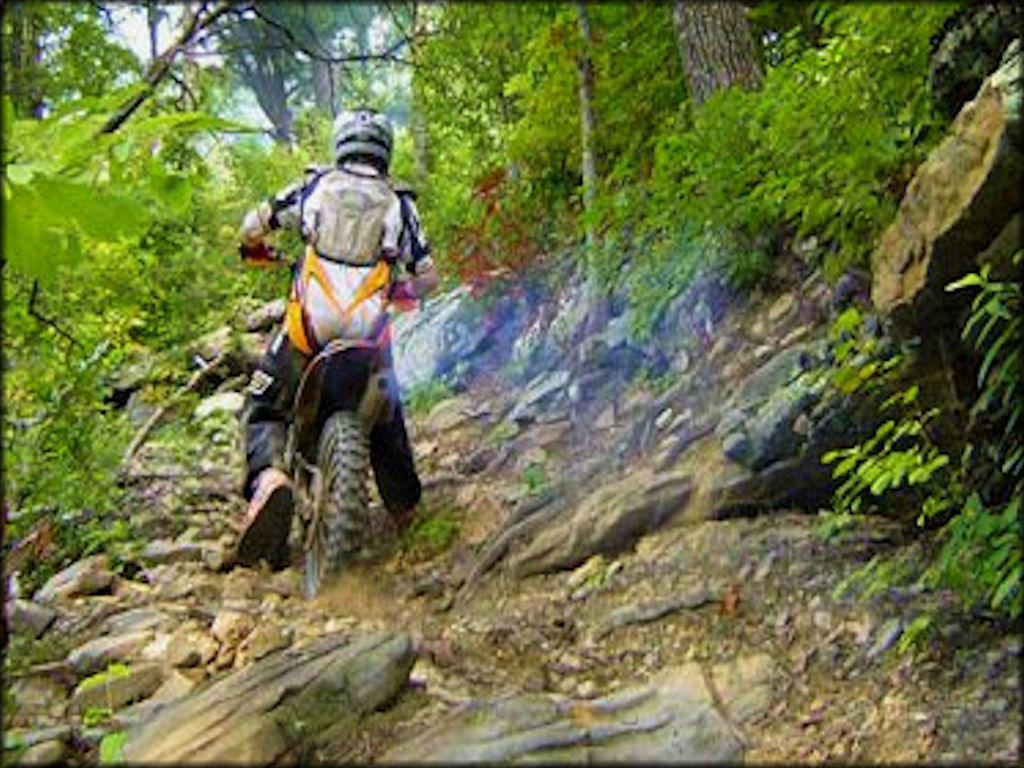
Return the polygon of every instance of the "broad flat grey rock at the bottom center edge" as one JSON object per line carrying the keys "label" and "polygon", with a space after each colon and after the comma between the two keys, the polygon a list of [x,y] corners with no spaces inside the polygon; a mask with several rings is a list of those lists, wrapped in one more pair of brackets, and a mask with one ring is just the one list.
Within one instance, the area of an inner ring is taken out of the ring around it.
{"label": "broad flat grey rock at the bottom center edge", "polygon": [[713,763],[742,754],[699,668],[686,665],[605,698],[472,701],[381,762]]}

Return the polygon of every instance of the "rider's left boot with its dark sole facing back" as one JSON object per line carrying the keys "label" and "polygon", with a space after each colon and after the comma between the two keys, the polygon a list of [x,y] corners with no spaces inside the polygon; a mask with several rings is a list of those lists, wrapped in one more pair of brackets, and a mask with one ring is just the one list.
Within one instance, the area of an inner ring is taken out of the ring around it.
{"label": "rider's left boot with its dark sole facing back", "polygon": [[276,467],[267,467],[256,476],[254,485],[243,520],[238,561],[252,566],[266,559],[272,568],[284,568],[288,565],[288,534],[295,508],[292,481]]}

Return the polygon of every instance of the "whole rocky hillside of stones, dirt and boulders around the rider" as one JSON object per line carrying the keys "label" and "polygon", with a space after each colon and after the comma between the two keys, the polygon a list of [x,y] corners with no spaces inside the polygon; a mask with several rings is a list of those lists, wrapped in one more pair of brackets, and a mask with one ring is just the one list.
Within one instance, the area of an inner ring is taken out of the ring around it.
{"label": "whole rocky hillside of stones, dirt and boulders around the rider", "polygon": [[[397,540],[375,503],[375,546],[312,601],[296,542],[279,573],[231,557],[241,392],[282,307],[197,342],[189,441],[143,429],[126,456],[142,544],[8,605],[6,756],[1018,761],[1019,637],[943,591],[838,589],[925,545],[884,516],[826,544],[813,514],[835,488],[822,455],[873,426],[826,385],[830,321],[860,306],[883,349],[907,346],[963,311],[951,274],[1019,240],[1012,72],[919,169],[873,282],[804,273],[810,241],[770,293],[706,274],[649,339],[572,274],[499,275],[403,316],[399,379],[445,382],[411,415],[418,521]],[[925,380],[961,376],[918,348]],[[119,394],[140,428],[146,375]],[[895,652],[926,611],[933,639]]]}

